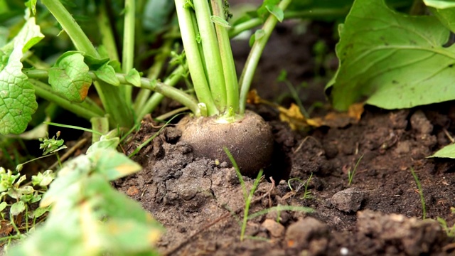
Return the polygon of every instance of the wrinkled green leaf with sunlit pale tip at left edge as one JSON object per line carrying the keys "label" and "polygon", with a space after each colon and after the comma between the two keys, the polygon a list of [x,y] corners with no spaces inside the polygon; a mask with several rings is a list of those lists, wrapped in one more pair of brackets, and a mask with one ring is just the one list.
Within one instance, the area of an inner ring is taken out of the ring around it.
{"label": "wrinkled green leaf with sunlit pale tip at left edge", "polygon": [[23,132],[38,108],[33,85],[22,73],[21,58],[43,37],[35,18],[28,18],[14,41],[0,48],[0,134]]}

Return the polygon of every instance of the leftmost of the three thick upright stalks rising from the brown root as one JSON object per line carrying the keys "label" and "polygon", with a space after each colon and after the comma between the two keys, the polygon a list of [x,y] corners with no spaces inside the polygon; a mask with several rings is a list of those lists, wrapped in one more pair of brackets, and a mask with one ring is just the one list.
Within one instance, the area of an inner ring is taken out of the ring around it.
{"label": "leftmost of the three thick upright stalks rising from the brown root", "polygon": [[196,41],[196,30],[193,27],[193,21],[191,19],[191,12],[185,7],[185,0],[175,0],[175,2],[183,48],[185,48],[188,69],[191,73],[191,80],[193,80],[196,96],[198,96],[199,102],[202,102],[207,107],[208,115],[218,114],[218,109],[213,101],[205,77],[203,62],[200,58],[198,42]]}

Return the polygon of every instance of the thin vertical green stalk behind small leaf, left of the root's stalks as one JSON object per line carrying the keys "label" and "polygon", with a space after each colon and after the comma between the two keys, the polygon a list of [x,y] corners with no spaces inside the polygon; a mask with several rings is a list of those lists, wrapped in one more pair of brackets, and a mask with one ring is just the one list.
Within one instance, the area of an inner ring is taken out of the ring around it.
{"label": "thin vertical green stalk behind small leaf, left of the root's stalks", "polygon": [[[136,21],[136,0],[125,0],[125,18],[123,26],[122,71],[127,74],[134,66],[134,28]],[[120,85],[124,90],[127,105],[132,105],[133,87]]]}

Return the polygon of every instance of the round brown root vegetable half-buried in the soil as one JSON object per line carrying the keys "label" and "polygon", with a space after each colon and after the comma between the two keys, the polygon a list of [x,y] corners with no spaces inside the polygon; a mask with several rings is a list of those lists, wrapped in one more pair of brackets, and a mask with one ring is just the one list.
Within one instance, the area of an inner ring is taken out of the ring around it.
{"label": "round brown root vegetable half-buried in the soil", "polygon": [[193,147],[195,157],[226,161],[226,146],[234,157],[240,172],[255,176],[270,165],[274,141],[269,124],[255,112],[245,112],[243,119],[232,123],[217,122],[217,117],[185,117],[178,124],[181,141]]}

